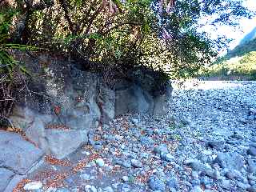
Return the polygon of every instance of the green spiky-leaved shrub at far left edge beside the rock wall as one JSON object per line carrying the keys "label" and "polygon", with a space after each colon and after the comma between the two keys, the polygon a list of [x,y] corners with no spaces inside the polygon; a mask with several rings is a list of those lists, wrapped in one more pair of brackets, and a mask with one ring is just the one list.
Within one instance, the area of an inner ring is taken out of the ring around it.
{"label": "green spiky-leaved shrub at far left edge beside the rock wall", "polygon": [[24,66],[10,55],[14,49],[26,50],[26,46],[9,43],[10,26],[14,11],[7,9],[0,14],[0,116],[10,114],[14,104],[14,92],[22,87],[24,78],[29,74]]}

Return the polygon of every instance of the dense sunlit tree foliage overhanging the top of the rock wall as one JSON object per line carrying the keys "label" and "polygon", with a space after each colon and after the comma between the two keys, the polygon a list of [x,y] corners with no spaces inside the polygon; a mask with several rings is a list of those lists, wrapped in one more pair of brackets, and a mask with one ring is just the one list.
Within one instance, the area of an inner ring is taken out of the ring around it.
{"label": "dense sunlit tree foliage overhanging the top of the rock wall", "polygon": [[1,6],[14,14],[9,42],[58,51],[86,67],[126,72],[145,65],[172,77],[196,74],[223,45],[198,32],[202,18],[234,25],[252,14],[240,0],[6,0]]}

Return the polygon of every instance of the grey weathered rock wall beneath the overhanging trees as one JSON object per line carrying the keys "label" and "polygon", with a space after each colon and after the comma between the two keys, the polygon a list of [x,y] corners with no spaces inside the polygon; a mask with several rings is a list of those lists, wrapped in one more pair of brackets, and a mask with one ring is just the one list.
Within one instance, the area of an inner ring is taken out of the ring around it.
{"label": "grey weathered rock wall beneath the overhanging trees", "polygon": [[88,142],[89,130],[115,116],[166,113],[171,86],[166,86],[165,93],[155,94],[149,89],[154,78],[146,83],[124,80],[110,89],[101,74],[78,70],[62,58],[20,58],[33,77],[26,85],[26,97],[18,101],[10,120],[46,154],[56,158],[64,158]]}

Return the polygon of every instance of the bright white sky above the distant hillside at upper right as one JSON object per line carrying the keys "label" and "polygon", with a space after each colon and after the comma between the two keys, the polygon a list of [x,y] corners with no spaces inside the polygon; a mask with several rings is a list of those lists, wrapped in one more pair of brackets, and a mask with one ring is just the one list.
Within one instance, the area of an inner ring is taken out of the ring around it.
{"label": "bright white sky above the distant hillside at upper right", "polygon": [[[247,6],[250,10],[256,10],[256,0],[244,0],[244,6]],[[248,34],[256,26],[256,17],[252,19],[242,19],[240,21],[241,29],[234,29],[230,26],[218,26],[217,30],[208,26],[203,27],[212,38],[217,38],[219,34],[225,34],[227,38],[234,38],[234,41],[230,43],[230,49],[237,46],[242,38]]]}

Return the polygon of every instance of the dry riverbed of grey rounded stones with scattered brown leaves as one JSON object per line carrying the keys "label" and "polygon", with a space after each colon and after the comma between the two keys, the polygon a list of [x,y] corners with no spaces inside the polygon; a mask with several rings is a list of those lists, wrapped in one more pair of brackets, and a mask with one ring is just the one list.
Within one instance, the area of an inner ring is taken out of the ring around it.
{"label": "dry riverbed of grey rounded stones with scattered brown leaves", "polygon": [[166,116],[122,116],[88,137],[16,191],[254,192],[256,82],[175,84]]}

